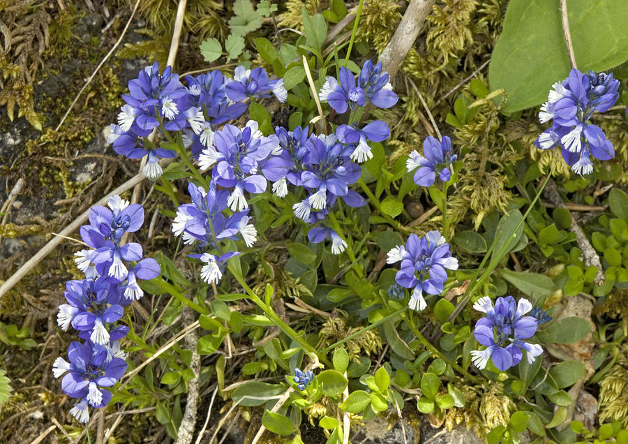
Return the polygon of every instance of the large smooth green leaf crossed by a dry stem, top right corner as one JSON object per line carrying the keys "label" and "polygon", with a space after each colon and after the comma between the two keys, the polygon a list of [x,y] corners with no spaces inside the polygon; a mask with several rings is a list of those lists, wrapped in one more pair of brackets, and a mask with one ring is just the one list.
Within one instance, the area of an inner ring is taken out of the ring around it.
{"label": "large smooth green leaf crossed by a dry stem, top right corner", "polygon": [[[567,0],[567,11],[578,69],[604,71],[626,60],[625,0]],[[508,93],[504,111],[543,103],[570,69],[560,1],[511,0],[488,71],[491,89]]]}

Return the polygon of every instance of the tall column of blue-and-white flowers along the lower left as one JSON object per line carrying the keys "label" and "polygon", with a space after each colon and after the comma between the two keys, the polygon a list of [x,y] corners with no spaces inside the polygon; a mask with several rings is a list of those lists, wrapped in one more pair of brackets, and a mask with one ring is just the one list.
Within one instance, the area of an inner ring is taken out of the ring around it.
{"label": "tall column of blue-and-white flowers along the lower left", "polygon": [[61,381],[61,389],[80,401],[70,413],[80,422],[89,420],[88,406],[103,407],[111,387],[126,370],[126,355],[119,340],[128,334],[128,327],[115,325],[124,315],[124,307],[140,299],[144,292],[138,279],[153,279],[160,267],[152,258],[142,259],[142,246],[135,242],[123,244],[126,233],[136,232],[144,223],[141,205],[114,195],[107,207],[89,210],[89,225],[80,233],[91,249],[75,253],[75,262],[85,279],[66,282],[67,304],[59,306],[57,323],[63,331],[70,325],[84,343],[73,342],[68,348],[69,362],[59,357],[52,373]]}

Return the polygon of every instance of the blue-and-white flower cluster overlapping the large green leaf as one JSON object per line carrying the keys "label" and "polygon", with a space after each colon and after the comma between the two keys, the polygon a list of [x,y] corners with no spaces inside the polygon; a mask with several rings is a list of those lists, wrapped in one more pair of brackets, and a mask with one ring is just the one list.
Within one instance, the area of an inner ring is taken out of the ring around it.
{"label": "blue-and-white flower cluster overlapping the large green leaf", "polygon": [[593,171],[590,155],[600,161],[615,156],[615,149],[604,131],[591,124],[594,112],[605,112],[619,97],[619,81],[613,74],[583,74],[572,69],[569,77],[553,85],[548,101],[541,106],[541,124],[552,120],[534,142],[539,149],[560,147],[562,157],[578,175]]}

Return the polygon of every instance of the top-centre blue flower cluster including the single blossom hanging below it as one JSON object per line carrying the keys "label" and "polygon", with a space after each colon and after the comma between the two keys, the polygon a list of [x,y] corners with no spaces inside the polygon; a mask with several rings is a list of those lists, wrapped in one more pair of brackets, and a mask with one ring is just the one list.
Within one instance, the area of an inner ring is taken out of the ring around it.
{"label": "top-centre blue flower cluster including the single blossom hanging below it", "polygon": [[382,71],[381,61],[375,66],[370,60],[364,62],[357,83],[351,71],[344,66],[338,78],[340,82],[334,77],[326,77],[318,97],[320,101],[327,101],[338,114],[351,111],[349,124],[338,126],[336,135],[340,142],[352,147],[350,158],[353,161],[368,161],[373,158],[373,153],[367,141],[382,142],[389,137],[390,130],[381,120],[360,128],[361,112],[368,103],[373,103],[377,108],[391,108],[397,103],[398,96],[392,91],[390,76]]}

